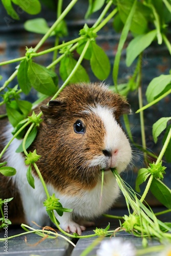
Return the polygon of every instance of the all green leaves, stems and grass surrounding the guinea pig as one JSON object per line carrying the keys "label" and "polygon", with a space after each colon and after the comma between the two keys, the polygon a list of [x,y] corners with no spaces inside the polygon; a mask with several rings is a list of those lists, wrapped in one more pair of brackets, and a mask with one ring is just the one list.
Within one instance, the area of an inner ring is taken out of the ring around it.
{"label": "all green leaves, stems and grass surrounding the guinea pig", "polygon": [[[54,9],[53,3],[50,1],[43,1],[50,8]],[[99,18],[96,20],[92,27],[88,27],[87,24],[83,26],[79,31],[79,36],[71,41],[62,42],[59,45],[59,41],[62,41],[63,36],[68,35],[68,28],[65,22],[65,16],[71,11],[72,7],[76,4],[76,0],[72,0],[67,8],[62,12],[61,4],[62,0],[58,1],[57,5],[57,20],[50,28],[47,21],[44,18],[36,18],[27,20],[25,23],[25,29],[32,33],[43,34],[44,36],[38,42],[35,48],[27,48],[25,56],[9,60],[0,63],[0,65],[7,65],[13,62],[19,62],[17,69],[11,75],[11,77],[4,83],[3,87],[0,88],[1,97],[3,101],[0,103],[6,104],[7,116],[11,124],[14,126],[12,132],[13,138],[23,139],[24,142],[20,144],[16,152],[23,152],[26,154],[25,163],[28,165],[27,169],[27,180],[28,183],[34,188],[34,177],[32,175],[32,165],[34,166],[37,175],[39,176],[42,185],[44,186],[47,200],[44,202],[44,206],[47,209],[48,215],[52,222],[58,227],[59,222],[57,221],[54,210],[59,216],[62,216],[63,211],[71,212],[71,209],[63,208],[59,199],[49,195],[46,184],[39,172],[36,165],[36,161],[39,160],[40,156],[36,154],[36,149],[33,153],[27,153],[27,149],[34,141],[37,134],[37,127],[42,121],[41,113],[35,114],[34,111],[30,116],[29,113],[32,109],[32,104],[28,101],[20,99],[20,93],[29,94],[31,89],[37,91],[41,94],[38,102],[45,99],[47,96],[52,96],[56,98],[60,91],[65,88],[65,86],[71,82],[89,82],[89,74],[87,74],[86,69],[84,69],[84,62],[82,59],[86,59],[87,65],[92,69],[92,72],[99,80],[104,80],[108,78],[111,72],[111,63],[100,46],[98,46],[98,31],[111,20],[113,17],[113,26],[116,32],[121,32],[120,39],[118,43],[118,49],[116,56],[114,58],[113,65],[113,81],[115,87],[110,87],[114,92],[119,92],[120,94],[126,96],[127,94],[136,91],[142,87],[143,82],[143,65],[142,58],[143,52],[156,41],[159,45],[165,44],[168,54],[171,53],[171,45],[169,39],[167,38],[168,25],[171,21],[171,2],[170,0],[89,0],[89,8],[85,16],[90,17],[91,14],[97,10],[102,10]],[[19,6],[25,12],[29,14],[37,14],[41,10],[41,6],[38,0],[2,0],[2,3],[7,11],[7,13],[13,19],[19,19],[19,15],[14,9],[14,6]],[[130,33],[131,32],[131,33]],[[131,41],[126,47],[126,39],[128,35],[131,34]],[[52,37],[54,39],[54,47],[46,49],[44,51],[37,51],[45,43],[45,41]],[[67,40],[67,38],[66,38]],[[163,45],[162,45],[163,46]],[[118,74],[119,65],[123,49],[126,47],[126,65],[131,67],[133,74],[125,82],[118,84]],[[39,64],[39,56],[46,55],[53,52],[52,62],[48,67],[44,67]],[[75,55],[77,53],[77,55]],[[78,56],[79,55],[79,56]],[[36,57],[36,59],[34,59]],[[78,58],[78,60],[76,60]],[[135,69],[134,65],[135,64]],[[56,74],[56,65],[59,66],[59,74]],[[74,72],[73,72],[74,71]],[[14,88],[8,88],[8,84],[17,75],[18,85]],[[60,79],[58,79],[58,77]],[[0,80],[2,76],[0,75]],[[63,80],[63,84],[59,89],[59,80]],[[19,89],[18,89],[19,86]],[[59,90],[58,90],[59,89]],[[152,79],[148,84],[146,90],[146,99],[148,105],[145,106],[149,108],[151,105],[156,103],[156,100],[164,98],[170,93],[171,90],[171,75],[162,74],[158,77]],[[34,102],[33,105],[37,104]],[[139,104],[142,106],[142,96],[139,95]],[[142,108],[140,108],[140,119],[143,120],[143,115],[141,114]],[[29,116],[28,116],[29,115]],[[124,118],[128,120],[128,118]],[[133,209],[133,214],[129,216],[124,216],[124,223],[121,224],[121,229],[132,232],[135,236],[143,237],[143,244],[146,245],[146,237],[155,236],[162,241],[169,237],[164,236],[163,230],[170,231],[170,225],[160,222],[153,212],[143,205],[143,201],[146,197],[147,191],[151,189],[154,196],[168,209],[170,209],[170,188],[168,188],[161,180],[166,172],[166,168],[162,166],[162,159],[165,156],[165,160],[170,162],[170,152],[171,152],[171,125],[168,123],[171,117],[162,117],[153,125],[153,138],[155,143],[157,143],[159,136],[163,136],[163,147],[155,163],[148,163],[148,167],[141,168],[138,171],[138,176],[136,180],[136,190],[140,191],[140,185],[146,182],[146,188],[144,193],[139,200],[135,192],[125,186],[123,181],[120,180],[119,175],[116,174],[116,170],[112,170],[115,178],[120,186],[122,193],[125,197],[126,204],[130,214],[130,206]],[[29,126],[29,128],[27,127]],[[144,160],[146,162],[146,155],[150,153],[145,147],[145,136],[143,135],[143,125],[142,126],[142,144]],[[27,127],[27,129],[26,129]],[[133,136],[131,135],[130,125],[126,125],[128,134],[130,134],[130,139],[134,143]],[[27,131],[27,133],[26,133]],[[26,135],[25,135],[26,134]],[[145,134],[145,132],[144,132]],[[1,153],[3,156],[6,148]],[[151,154],[152,155],[152,154]],[[154,156],[154,155],[153,155]],[[16,170],[12,167],[5,166],[7,163],[0,163],[0,173],[6,176],[15,175]],[[2,211],[3,200],[0,199],[0,208]],[[3,217],[0,221],[4,223]],[[9,221],[10,224],[10,221]],[[60,227],[58,227],[60,230]],[[96,236],[107,236],[109,234],[110,225],[105,229],[96,228],[94,230]],[[27,230],[27,229],[26,229]],[[28,231],[28,230],[27,230]],[[62,231],[62,230],[60,230]],[[113,232],[112,232],[113,233]],[[112,234],[111,233],[111,234]],[[71,237],[78,237],[77,234],[71,235]],[[169,237],[170,238],[170,237]]]}

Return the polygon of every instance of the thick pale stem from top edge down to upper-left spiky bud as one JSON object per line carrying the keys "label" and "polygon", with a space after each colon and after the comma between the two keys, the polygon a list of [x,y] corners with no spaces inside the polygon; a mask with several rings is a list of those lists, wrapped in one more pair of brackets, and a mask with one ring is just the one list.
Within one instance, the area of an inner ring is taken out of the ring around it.
{"label": "thick pale stem from top edge down to upper-left spiky bud", "polygon": [[72,0],[70,4],[67,6],[67,8],[61,13],[59,18],[56,20],[56,22],[52,25],[52,27],[48,30],[48,32],[41,38],[41,40],[38,42],[36,47],[34,48],[34,52],[36,52],[42,44],[47,40],[47,38],[50,36],[52,31],[56,28],[56,26],[61,22],[61,20],[67,15],[67,13],[72,9],[72,7],[76,4],[78,0]]}

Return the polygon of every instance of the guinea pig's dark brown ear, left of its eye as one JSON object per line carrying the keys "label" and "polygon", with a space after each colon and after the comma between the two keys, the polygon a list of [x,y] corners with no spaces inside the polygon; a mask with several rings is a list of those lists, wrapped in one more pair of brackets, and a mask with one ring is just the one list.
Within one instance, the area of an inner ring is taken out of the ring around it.
{"label": "guinea pig's dark brown ear, left of its eye", "polygon": [[49,105],[40,106],[40,110],[44,114],[45,119],[56,118],[61,115],[63,110],[65,109],[65,102],[60,100],[51,100],[49,101]]}

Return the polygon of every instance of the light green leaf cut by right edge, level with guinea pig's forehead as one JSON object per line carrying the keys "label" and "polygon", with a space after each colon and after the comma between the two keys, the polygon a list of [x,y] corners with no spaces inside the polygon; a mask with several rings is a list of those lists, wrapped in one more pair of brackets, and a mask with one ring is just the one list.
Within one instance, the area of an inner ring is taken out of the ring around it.
{"label": "light green leaf cut by right edge, level with guinea pig's forehead", "polygon": [[[171,81],[171,75],[160,75],[155,77],[149,84],[146,90],[146,98],[148,102],[152,102]],[[169,89],[169,88],[168,88]]]}

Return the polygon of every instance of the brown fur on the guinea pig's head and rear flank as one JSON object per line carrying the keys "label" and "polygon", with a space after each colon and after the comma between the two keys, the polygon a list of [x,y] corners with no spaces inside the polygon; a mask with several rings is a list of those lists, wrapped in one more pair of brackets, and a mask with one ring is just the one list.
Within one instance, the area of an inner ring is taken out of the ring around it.
{"label": "brown fur on the guinea pig's head and rear flank", "polygon": [[[48,100],[44,104],[47,102]],[[113,109],[118,122],[121,114],[130,112],[125,99],[99,84],[73,84],[66,87],[49,106],[38,106],[34,110],[38,113],[41,109],[44,121],[40,123],[36,139],[28,151],[36,149],[41,156],[37,165],[42,177],[61,193],[81,195],[82,189],[92,189],[97,183],[99,166],[88,168],[87,160],[102,154],[104,126],[94,113],[82,114],[82,111],[89,110],[89,106],[96,106],[98,103]],[[74,132],[77,120],[81,120],[86,127],[85,134]],[[2,151],[7,119],[0,119],[0,125]],[[33,172],[36,174],[35,170]],[[22,219],[23,206],[15,184],[0,174],[0,198],[10,197],[14,197],[14,200],[9,203],[9,218],[15,215],[18,220]]]}

